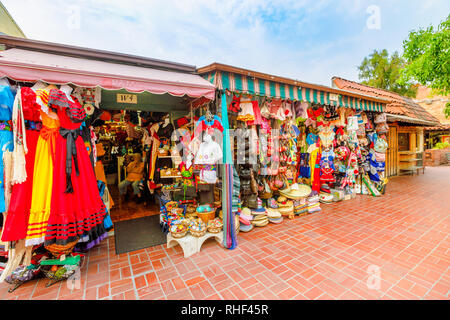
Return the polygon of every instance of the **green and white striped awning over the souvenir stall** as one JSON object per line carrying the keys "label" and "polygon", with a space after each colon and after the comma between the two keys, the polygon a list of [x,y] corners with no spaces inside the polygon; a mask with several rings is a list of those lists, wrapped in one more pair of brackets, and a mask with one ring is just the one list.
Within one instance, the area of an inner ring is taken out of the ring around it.
{"label": "green and white striped awning over the souvenir stall", "polygon": [[383,112],[382,103],[369,99],[359,99],[316,89],[301,88],[226,71],[212,71],[202,76],[218,89],[228,89],[237,93],[321,103],[355,110]]}

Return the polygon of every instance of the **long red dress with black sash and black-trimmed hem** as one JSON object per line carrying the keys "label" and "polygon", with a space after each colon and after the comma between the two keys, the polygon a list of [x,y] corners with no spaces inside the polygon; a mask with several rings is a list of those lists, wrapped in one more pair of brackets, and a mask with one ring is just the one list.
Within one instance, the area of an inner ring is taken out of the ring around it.
{"label": "long red dress with black sash and black-trimmed hem", "polygon": [[[61,127],[55,143],[52,202],[44,245],[67,244],[81,236],[97,239],[105,233],[106,208],[80,136],[81,122],[73,122],[66,112],[73,114],[74,108],[82,109],[78,102],[70,108],[58,107]],[[72,152],[68,154],[68,150]]]}

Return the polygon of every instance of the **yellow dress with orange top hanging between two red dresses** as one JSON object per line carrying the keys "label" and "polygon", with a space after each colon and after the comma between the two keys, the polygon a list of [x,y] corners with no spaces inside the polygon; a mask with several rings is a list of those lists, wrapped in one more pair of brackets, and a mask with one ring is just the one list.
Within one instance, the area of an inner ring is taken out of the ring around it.
{"label": "yellow dress with orange top hanging between two red dresses", "polygon": [[53,158],[55,140],[59,134],[59,120],[56,113],[50,116],[41,111],[42,129],[36,146],[34,162],[33,191],[30,217],[28,219],[26,246],[44,242],[47,222],[50,216],[53,186]]}

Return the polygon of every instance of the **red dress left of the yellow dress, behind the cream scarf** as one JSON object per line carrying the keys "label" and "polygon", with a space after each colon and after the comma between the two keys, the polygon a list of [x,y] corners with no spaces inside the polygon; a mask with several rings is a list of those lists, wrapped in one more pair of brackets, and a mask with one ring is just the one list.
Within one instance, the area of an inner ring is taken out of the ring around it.
{"label": "red dress left of the yellow dress, behind the cream scarf", "polygon": [[28,217],[31,208],[33,187],[34,158],[40,126],[40,105],[36,103],[36,94],[31,88],[21,89],[22,111],[26,120],[26,141],[28,153],[25,155],[27,179],[12,186],[11,200],[3,226],[2,241],[25,239],[28,228]]}

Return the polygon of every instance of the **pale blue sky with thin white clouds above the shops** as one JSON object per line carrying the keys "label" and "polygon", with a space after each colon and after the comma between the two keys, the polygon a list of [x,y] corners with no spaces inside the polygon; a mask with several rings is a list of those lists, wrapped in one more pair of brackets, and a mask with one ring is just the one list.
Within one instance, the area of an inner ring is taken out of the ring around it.
{"label": "pale blue sky with thin white clouds above the shops", "polygon": [[374,49],[401,51],[448,0],[3,0],[28,38],[330,85]]}

